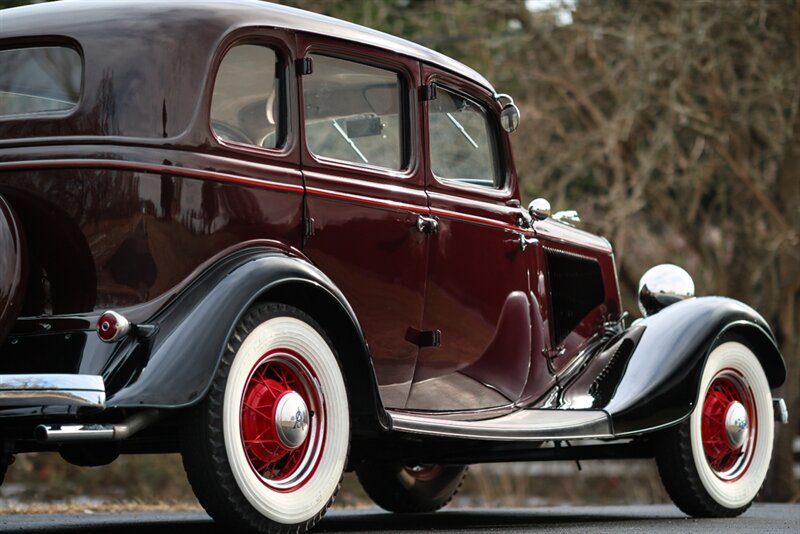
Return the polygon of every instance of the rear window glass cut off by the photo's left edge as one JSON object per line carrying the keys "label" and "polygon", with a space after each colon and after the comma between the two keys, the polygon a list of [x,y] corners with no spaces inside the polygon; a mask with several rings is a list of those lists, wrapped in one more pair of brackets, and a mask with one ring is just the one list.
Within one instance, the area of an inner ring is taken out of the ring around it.
{"label": "rear window glass cut off by the photo's left edge", "polygon": [[81,93],[81,57],[66,46],[0,50],[0,117],[63,113]]}

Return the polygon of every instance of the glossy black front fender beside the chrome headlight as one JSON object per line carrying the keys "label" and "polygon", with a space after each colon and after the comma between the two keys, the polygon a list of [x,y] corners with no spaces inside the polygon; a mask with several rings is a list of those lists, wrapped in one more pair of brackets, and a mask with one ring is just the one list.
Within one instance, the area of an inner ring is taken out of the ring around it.
{"label": "glossy black front fender beside the chrome headlight", "polygon": [[638,342],[602,407],[611,417],[615,436],[665,428],[687,418],[697,405],[709,353],[731,338],[753,350],[770,387],[786,380],[786,365],[767,322],[733,299],[685,300],[637,321],[631,332]]}

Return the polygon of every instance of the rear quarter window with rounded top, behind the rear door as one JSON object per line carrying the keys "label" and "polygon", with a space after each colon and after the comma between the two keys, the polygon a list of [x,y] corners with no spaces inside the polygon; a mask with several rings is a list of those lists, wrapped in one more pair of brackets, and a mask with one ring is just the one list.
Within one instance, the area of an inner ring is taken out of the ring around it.
{"label": "rear quarter window with rounded top, behind the rear door", "polygon": [[281,80],[275,51],[253,44],[231,48],[211,97],[211,128],[223,141],[264,148],[283,143]]}

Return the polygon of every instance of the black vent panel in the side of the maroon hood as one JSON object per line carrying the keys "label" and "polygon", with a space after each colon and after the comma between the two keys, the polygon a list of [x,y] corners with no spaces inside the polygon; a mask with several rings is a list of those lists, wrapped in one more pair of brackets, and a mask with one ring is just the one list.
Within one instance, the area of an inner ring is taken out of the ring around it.
{"label": "black vent panel in the side of the maroon hood", "polygon": [[561,343],[596,306],[605,300],[600,266],[592,258],[545,249],[550,278],[553,346]]}

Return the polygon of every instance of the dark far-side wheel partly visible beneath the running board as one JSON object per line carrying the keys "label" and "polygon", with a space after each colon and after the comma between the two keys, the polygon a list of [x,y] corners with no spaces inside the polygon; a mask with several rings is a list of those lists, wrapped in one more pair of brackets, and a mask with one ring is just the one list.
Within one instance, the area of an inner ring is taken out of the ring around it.
{"label": "dark far-side wheel partly visible beneath the running board", "polygon": [[467,469],[465,465],[368,463],[356,468],[356,474],[375,504],[389,512],[410,514],[444,507],[458,493]]}

